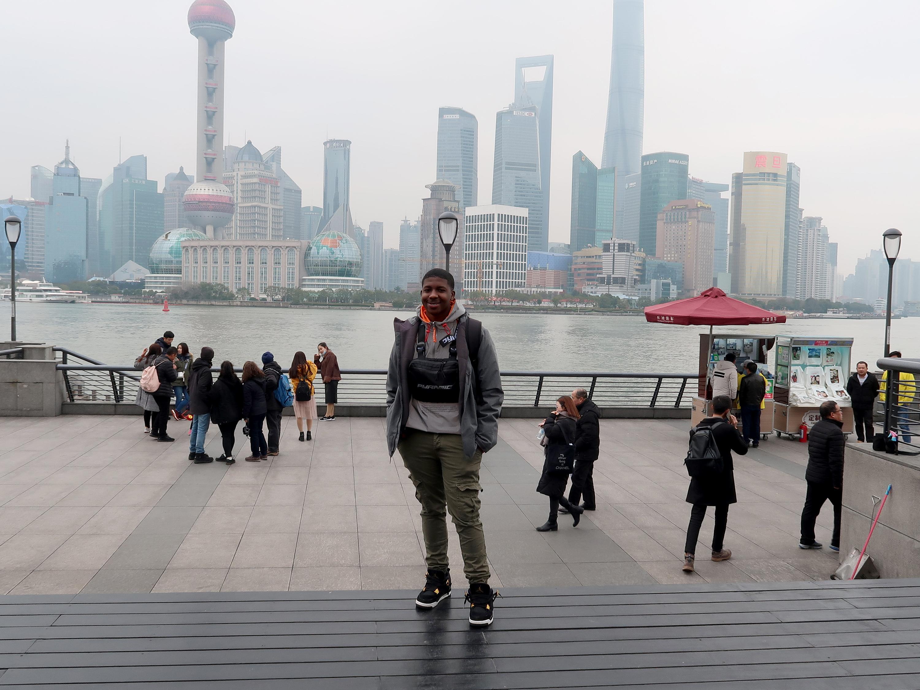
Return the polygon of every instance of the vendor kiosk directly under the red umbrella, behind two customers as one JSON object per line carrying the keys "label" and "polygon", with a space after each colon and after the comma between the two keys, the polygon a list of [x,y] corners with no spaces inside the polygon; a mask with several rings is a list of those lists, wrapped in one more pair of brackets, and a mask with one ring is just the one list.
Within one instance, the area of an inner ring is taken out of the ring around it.
{"label": "vendor kiosk directly under the red umbrella, behind two customers", "polygon": [[[692,411],[690,414],[691,424],[696,426],[701,420],[709,416],[711,411],[710,400],[712,399],[712,387],[709,381],[712,377],[712,371],[716,367],[716,362],[725,359],[729,352],[735,354],[735,368],[739,374],[742,374],[744,362],[751,360],[757,362],[757,370],[764,374],[766,378],[766,397],[764,398],[764,408],[761,410],[760,424],[761,430],[769,430],[773,427],[773,374],[770,374],[766,366],[767,352],[774,345],[776,338],[774,336],[758,336],[750,333],[741,334],[712,334],[712,347],[709,347],[709,334],[699,334],[699,385],[697,395],[693,399]],[[769,431],[762,432],[761,436],[766,438]]]}

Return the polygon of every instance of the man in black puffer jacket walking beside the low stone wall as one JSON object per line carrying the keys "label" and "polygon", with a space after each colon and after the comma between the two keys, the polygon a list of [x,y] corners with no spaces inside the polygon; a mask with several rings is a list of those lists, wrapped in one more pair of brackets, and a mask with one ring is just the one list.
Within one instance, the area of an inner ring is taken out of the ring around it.
{"label": "man in black puffer jacket walking beside the low stone wall", "polygon": [[824,501],[834,505],[834,535],[831,550],[840,550],[840,506],[844,498],[844,410],[834,400],[821,404],[821,421],[808,434],[808,491],[802,509],[802,536],[799,548],[821,548],[814,540],[814,521]]}

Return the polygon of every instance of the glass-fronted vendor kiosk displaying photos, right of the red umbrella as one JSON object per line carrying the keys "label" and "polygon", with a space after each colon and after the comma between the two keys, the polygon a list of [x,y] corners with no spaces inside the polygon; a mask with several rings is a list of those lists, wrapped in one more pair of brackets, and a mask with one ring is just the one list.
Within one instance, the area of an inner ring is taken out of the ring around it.
{"label": "glass-fronted vendor kiosk displaying photos, right of the red umbrella", "polygon": [[818,408],[835,400],[844,410],[845,434],[853,433],[853,408],[846,393],[852,338],[816,339],[776,336],[776,385],[773,431],[799,438],[821,419]]}

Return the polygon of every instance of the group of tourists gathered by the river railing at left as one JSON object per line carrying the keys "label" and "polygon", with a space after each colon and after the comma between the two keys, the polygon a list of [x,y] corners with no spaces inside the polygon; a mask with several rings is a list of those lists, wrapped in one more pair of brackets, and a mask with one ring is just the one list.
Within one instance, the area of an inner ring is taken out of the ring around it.
{"label": "group of tourists gathered by the river railing at left", "polygon": [[[319,419],[336,419],[341,373],[335,353],[325,342],[319,343],[312,360],[304,352],[296,352],[286,370],[270,351],[262,354],[261,368],[256,362],[246,362],[242,378],[236,375],[233,362],[224,361],[215,380],[213,348],[202,347],[200,356],[193,359],[189,346],[184,342],[173,346],[173,339],[175,334],[167,330],[134,361],[134,368],[143,371],[135,403],[144,409],[144,433],[161,443],[175,441],[167,434],[170,414],[175,420],[190,420],[189,459],[195,463],[215,459],[204,452],[204,439],[212,423],[221,431],[224,453],[216,458],[220,462],[236,462],[234,443],[240,420],[244,422],[243,433],[249,437],[247,462],[279,454],[285,407],[293,408],[299,440],[311,441],[317,419],[317,373],[326,387],[327,403],[326,414]],[[175,407],[170,409],[173,398]]]}

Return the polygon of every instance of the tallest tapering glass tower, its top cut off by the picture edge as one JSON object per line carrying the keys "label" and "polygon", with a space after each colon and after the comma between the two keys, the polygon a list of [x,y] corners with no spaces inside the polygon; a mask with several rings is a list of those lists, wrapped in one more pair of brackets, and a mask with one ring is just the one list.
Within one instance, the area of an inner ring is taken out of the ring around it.
{"label": "tallest tapering glass tower, its top cut off by the picture edge", "polygon": [[[643,0],[614,0],[610,95],[601,167],[616,177],[638,173],[645,109],[645,19]],[[617,195],[619,196],[619,195]]]}

